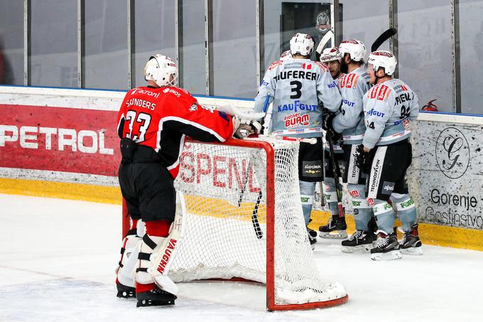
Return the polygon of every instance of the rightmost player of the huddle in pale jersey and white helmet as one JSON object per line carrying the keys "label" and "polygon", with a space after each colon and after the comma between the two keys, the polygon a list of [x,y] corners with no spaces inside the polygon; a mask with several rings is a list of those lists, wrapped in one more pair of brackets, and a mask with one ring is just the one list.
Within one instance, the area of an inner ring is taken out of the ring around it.
{"label": "rightmost player of the huddle in pale jersey and white helmet", "polygon": [[[364,95],[366,132],[359,146],[357,163],[365,168],[367,203],[374,210],[379,226],[378,240],[371,249],[371,259],[398,259],[402,252],[422,254],[416,223],[416,206],[408,194],[406,170],[412,151],[409,122],[419,113],[418,96],[402,80],[392,77],[396,58],[386,50],[369,55],[368,73],[374,87]],[[394,210],[402,222],[403,240],[394,232]]]}

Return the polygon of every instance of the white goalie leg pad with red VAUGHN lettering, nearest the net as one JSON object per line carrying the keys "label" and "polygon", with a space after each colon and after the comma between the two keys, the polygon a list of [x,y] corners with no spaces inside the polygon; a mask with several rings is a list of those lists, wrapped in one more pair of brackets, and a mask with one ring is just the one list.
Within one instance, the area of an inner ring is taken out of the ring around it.
{"label": "white goalie leg pad with red VAUGHN lettering, nearest the net", "polygon": [[168,277],[168,272],[173,264],[176,255],[176,247],[183,238],[183,226],[185,225],[185,198],[183,193],[176,193],[176,215],[171,224],[168,237],[161,241],[161,244],[154,249],[151,254],[152,266],[148,268],[148,273],[153,277],[154,283],[164,291],[171,294],[178,294],[178,286]]}

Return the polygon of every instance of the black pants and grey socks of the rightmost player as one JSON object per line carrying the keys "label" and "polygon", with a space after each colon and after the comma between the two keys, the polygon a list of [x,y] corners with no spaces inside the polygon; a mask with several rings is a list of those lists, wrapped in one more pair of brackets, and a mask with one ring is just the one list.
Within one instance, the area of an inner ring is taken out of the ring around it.
{"label": "black pants and grey socks of the rightmost player", "polygon": [[371,150],[371,173],[366,183],[367,203],[374,210],[377,225],[387,233],[392,232],[394,227],[394,210],[387,202],[389,198],[398,210],[405,232],[410,232],[411,226],[416,223],[416,206],[406,184],[406,170],[412,158],[408,139],[388,146],[375,146]]}

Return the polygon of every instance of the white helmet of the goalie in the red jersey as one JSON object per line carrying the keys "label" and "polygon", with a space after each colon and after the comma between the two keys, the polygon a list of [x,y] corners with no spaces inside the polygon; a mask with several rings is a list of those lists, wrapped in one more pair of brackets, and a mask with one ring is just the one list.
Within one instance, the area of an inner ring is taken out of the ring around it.
{"label": "white helmet of the goalie in the red jersey", "polygon": [[[170,81],[171,75],[173,75],[172,81]],[[168,56],[156,54],[151,56],[146,63],[144,78],[156,82],[159,87],[175,86],[178,82],[178,68]]]}

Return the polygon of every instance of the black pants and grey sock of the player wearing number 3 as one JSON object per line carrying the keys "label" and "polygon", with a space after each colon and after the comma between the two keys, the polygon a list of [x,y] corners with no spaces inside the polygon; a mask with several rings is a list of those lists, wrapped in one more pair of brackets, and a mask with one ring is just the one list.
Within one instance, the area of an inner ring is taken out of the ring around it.
{"label": "black pants and grey sock of the player wearing number 3", "polygon": [[315,144],[300,142],[298,150],[298,178],[305,225],[308,225],[310,220],[315,185],[324,178],[322,160],[321,137],[317,138]]}

